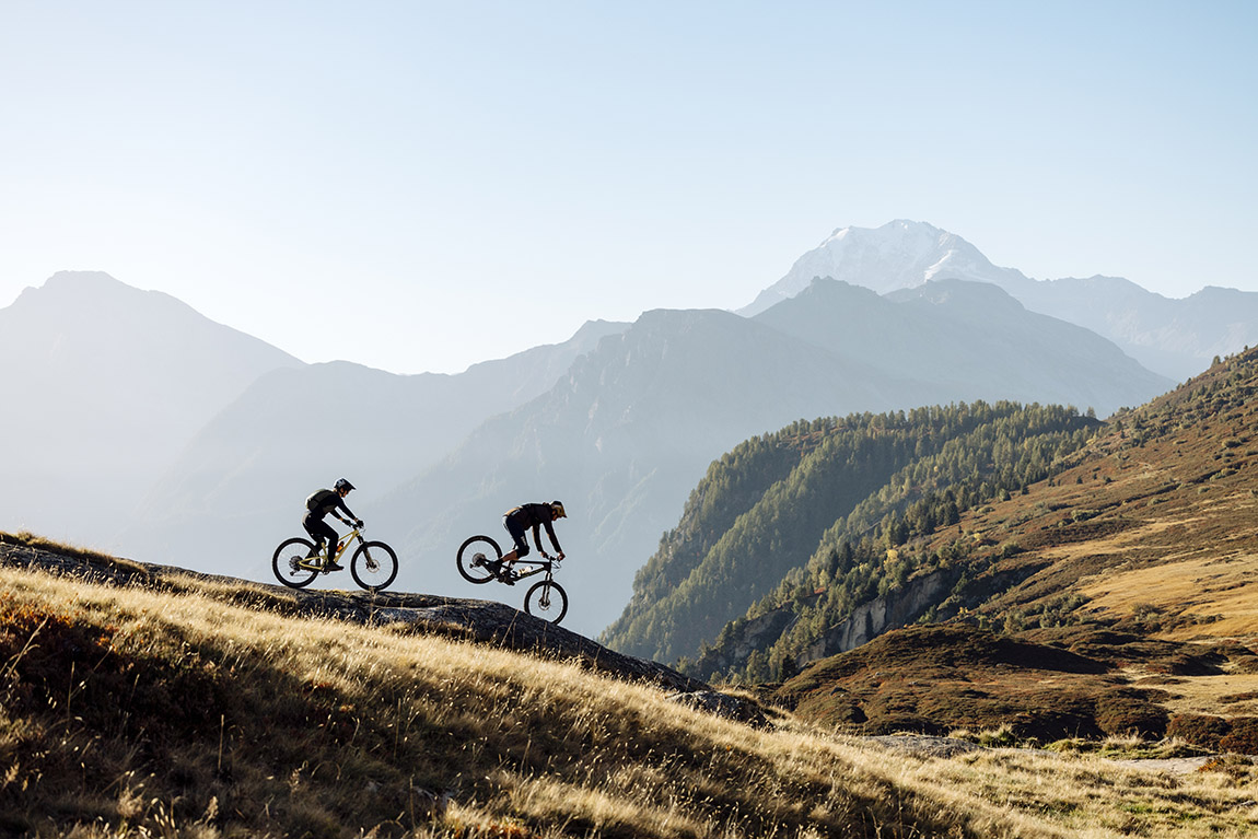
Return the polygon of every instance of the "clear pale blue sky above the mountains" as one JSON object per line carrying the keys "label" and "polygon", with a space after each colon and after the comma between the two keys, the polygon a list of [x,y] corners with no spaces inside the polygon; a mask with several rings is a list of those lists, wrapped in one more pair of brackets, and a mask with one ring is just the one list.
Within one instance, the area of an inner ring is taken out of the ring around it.
{"label": "clear pale blue sky above the mountains", "polygon": [[0,0],[0,307],[395,372],[737,308],[832,230],[1258,291],[1258,3]]}

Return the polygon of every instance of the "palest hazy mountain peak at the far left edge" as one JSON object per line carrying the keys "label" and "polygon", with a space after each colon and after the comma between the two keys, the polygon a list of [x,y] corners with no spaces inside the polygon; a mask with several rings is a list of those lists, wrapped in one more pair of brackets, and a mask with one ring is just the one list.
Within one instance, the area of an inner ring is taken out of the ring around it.
{"label": "palest hazy mountain peak at the far left edge", "polygon": [[258,376],[302,366],[169,294],[58,273],[0,309],[0,508],[21,527],[116,545],[215,411]]}

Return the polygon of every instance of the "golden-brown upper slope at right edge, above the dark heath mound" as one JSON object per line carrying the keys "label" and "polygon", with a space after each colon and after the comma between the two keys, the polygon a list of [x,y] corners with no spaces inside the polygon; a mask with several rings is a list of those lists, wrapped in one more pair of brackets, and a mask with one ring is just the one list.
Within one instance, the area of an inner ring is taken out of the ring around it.
{"label": "golden-brown upper slope at right edge, above the dark heath mound", "polygon": [[1250,351],[1112,421],[1050,484],[970,516],[976,541],[1021,550],[994,572],[1042,569],[980,614],[1078,594],[1081,619],[1144,613],[1156,638],[1258,639],[1255,419]]}

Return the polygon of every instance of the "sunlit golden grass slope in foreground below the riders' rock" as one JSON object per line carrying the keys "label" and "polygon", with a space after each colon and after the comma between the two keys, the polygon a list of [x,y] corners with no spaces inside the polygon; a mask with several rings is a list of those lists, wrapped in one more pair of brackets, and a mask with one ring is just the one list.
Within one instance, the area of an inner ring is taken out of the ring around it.
{"label": "sunlit golden grass slope in foreground below the riders' rock", "polygon": [[[244,584],[243,584],[244,585]],[[564,662],[0,569],[0,833],[1245,835],[1247,770],[905,757]]]}

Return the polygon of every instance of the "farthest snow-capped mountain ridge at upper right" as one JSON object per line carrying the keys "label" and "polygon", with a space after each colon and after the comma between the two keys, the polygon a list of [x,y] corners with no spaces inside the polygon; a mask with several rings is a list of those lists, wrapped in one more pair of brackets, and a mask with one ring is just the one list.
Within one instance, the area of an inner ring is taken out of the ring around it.
{"label": "farthest snow-capped mountain ridge at upper right", "polygon": [[1116,277],[1034,281],[991,264],[961,236],[903,219],[877,229],[835,230],[738,312],[759,314],[799,294],[814,278],[827,277],[879,294],[941,279],[991,283],[1033,312],[1110,338],[1175,381],[1200,372],[1214,356],[1258,345],[1258,293],[1205,287],[1171,299]]}

